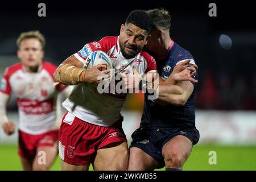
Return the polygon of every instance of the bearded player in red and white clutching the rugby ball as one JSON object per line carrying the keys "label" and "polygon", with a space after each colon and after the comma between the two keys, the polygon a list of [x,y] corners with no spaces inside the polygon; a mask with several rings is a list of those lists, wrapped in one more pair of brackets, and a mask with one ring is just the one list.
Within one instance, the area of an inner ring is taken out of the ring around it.
{"label": "bearded player in red and white clutching the rugby ball", "polygon": [[121,25],[119,36],[85,44],[56,70],[56,82],[77,84],[63,103],[68,110],[59,133],[63,170],[88,170],[90,163],[94,170],[127,169],[129,154],[120,113],[127,94],[99,94],[97,89],[91,89],[89,83],[98,83],[98,76],[109,70],[101,72],[102,65],[86,70],[85,60],[100,50],[108,54],[119,73],[133,73],[133,69],[139,73],[156,72],[154,58],[142,51],[151,27],[146,11],[134,10]]}

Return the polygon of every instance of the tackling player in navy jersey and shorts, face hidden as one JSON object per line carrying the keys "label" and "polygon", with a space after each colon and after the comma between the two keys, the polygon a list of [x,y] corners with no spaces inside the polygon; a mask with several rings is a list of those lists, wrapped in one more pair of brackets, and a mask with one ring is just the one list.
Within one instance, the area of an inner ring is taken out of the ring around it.
{"label": "tackling player in navy jersey and shorts, face hidden", "polygon": [[[174,78],[185,63],[197,68],[187,50],[170,38],[171,16],[163,9],[148,10],[154,28],[146,45],[156,59],[159,72],[158,100],[145,96],[139,129],[130,146],[129,170],[154,170],[166,166],[167,171],[182,170],[199,141],[195,126],[195,94],[197,75],[188,79]],[[176,67],[175,67],[176,65]]]}

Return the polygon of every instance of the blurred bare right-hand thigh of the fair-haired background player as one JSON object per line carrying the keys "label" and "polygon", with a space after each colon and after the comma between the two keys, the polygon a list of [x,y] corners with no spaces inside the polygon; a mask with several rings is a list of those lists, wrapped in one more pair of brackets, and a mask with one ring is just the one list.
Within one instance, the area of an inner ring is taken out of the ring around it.
{"label": "blurred bare right-hand thigh of the fair-haired background player", "polygon": [[33,162],[33,170],[48,170],[57,155],[57,143],[53,146],[40,146],[36,149],[36,156]]}

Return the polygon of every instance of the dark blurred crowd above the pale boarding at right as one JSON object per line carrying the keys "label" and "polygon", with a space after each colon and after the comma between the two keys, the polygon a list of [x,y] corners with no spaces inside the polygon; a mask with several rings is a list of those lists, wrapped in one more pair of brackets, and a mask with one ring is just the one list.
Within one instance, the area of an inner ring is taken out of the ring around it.
{"label": "dark blurred crowd above the pale boarding at right", "polygon": [[255,110],[256,72],[252,76],[204,71],[197,89],[198,109]]}

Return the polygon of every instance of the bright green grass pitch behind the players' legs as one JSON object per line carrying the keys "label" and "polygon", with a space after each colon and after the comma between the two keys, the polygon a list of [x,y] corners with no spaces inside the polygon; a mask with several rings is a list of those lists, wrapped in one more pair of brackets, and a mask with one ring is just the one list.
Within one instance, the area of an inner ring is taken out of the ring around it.
{"label": "bright green grass pitch behind the players' legs", "polygon": [[[17,146],[0,145],[0,171],[22,170],[17,151]],[[212,156],[209,155],[210,151],[216,152],[216,164],[209,164]],[[61,170],[59,156],[51,170]],[[90,167],[90,170],[93,168]],[[196,145],[183,170],[256,170],[256,146]]]}

